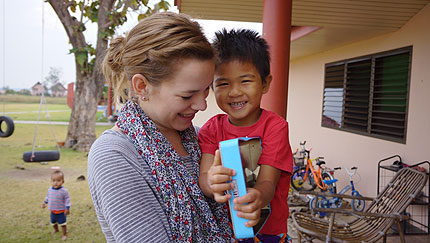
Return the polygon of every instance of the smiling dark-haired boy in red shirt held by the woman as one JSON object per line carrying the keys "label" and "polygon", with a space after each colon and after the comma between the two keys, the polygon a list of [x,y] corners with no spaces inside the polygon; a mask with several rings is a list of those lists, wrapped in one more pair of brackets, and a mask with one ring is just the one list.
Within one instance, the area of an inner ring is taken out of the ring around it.
{"label": "smiling dark-haired boy in red shirt held by the woman", "polygon": [[[288,123],[260,107],[269,90],[270,56],[266,41],[251,30],[222,30],[213,43],[218,52],[213,90],[218,106],[227,114],[212,117],[200,129],[202,150],[199,185],[207,197],[226,202],[224,191],[234,171],[220,165],[218,143],[237,137],[259,137],[262,153],[260,171],[253,188],[235,199],[238,216],[258,223],[260,210],[270,203],[271,213],[257,238],[261,242],[286,242],[289,216],[287,197],[293,168]],[[252,239],[250,242],[254,242]]]}

